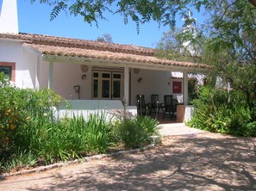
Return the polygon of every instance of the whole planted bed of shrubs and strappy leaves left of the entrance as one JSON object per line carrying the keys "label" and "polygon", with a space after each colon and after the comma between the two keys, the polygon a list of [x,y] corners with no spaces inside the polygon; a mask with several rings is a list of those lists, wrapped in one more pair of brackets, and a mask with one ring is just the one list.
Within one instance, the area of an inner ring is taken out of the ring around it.
{"label": "whole planted bed of shrubs and strappy leaves left of the entrance", "polygon": [[[91,114],[87,120],[83,116],[56,119],[56,106],[66,105],[59,95],[50,89],[18,89],[3,73],[0,100],[0,172],[104,153],[123,138],[123,123],[112,124],[105,114]],[[121,117],[124,113],[115,114]],[[122,119],[123,116],[119,121]],[[127,140],[127,148],[147,144],[157,132],[157,123],[147,118],[125,118],[126,132],[135,136]]]}

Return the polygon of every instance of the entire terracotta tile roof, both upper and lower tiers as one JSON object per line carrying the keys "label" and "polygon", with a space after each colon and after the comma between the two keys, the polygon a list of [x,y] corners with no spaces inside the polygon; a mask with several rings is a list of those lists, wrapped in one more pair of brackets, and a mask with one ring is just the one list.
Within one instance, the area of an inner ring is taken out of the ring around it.
{"label": "entire terracotta tile roof, both upper and lower tiers", "polygon": [[208,70],[208,65],[179,62],[153,57],[155,49],[120,45],[116,43],[78,40],[41,34],[1,34],[0,39],[22,40],[23,46],[41,54],[79,57],[89,59],[109,59],[116,61],[144,63],[148,65],[168,65]]}

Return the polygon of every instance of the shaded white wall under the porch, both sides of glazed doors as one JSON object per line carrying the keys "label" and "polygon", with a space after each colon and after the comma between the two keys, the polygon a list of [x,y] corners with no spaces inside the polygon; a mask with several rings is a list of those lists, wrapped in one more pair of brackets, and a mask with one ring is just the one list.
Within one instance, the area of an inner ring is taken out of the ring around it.
{"label": "shaded white wall under the porch, both sides of glazed doors", "polygon": [[[47,87],[48,62],[41,64],[41,84]],[[53,89],[64,98],[70,100],[78,100],[78,93],[73,88],[74,85],[80,85],[80,99],[91,100],[91,71],[83,72],[81,65],[67,63],[53,63]],[[42,75],[43,74],[43,75]],[[85,79],[82,76],[86,75]],[[138,79],[142,78],[139,83]],[[170,71],[150,71],[140,70],[139,74],[135,74],[131,70],[131,105],[136,105],[136,95],[145,95],[146,102],[151,102],[151,95],[158,94],[159,102],[164,102],[164,95],[172,94],[172,81],[182,82],[182,79],[173,79]]]}

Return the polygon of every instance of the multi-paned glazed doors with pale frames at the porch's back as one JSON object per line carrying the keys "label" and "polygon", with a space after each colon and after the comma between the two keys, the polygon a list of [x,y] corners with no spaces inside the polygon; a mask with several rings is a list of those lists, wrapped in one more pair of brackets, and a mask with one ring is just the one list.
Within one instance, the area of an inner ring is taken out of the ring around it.
{"label": "multi-paned glazed doors with pale frames at the porch's back", "polygon": [[92,98],[120,100],[123,96],[123,73],[116,71],[93,71]]}

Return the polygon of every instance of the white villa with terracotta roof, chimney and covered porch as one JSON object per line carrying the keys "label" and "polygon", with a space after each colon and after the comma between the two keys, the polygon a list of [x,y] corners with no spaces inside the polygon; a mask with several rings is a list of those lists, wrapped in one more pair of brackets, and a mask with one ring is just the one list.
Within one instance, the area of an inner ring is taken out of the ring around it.
{"label": "white villa with terracotta roof, chimney and covered porch", "polygon": [[[189,73],[209,66],[154,57],[153,48],[20,33],[16,0],[3,0],[0,15],[0,71],[22,89],[53,89],[76,109],[136,111],[136,95],[173,95],[188,108]],[[175,76],[182,72],[182,76]],[[197,82],[198,83],[198,82]],[[201,83],[201,82],[200,82]]]}

